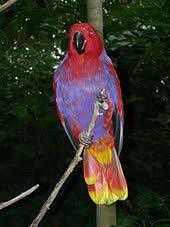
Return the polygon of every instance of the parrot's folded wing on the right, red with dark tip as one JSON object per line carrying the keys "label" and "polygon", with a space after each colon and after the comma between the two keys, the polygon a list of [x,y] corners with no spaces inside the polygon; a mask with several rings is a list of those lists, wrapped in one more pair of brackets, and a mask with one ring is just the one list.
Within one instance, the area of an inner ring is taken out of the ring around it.
{"label": "parrot's folded wing on the right, red with dark tip", "polygon": [[122,101],[122,95],[121,95],[120,82],[117,77],[114,66],[111,63],[109,58],[107,58],[107,62],[105,64],[109,72],[108,73],[109,83],[112,84],[113,85],[112,88],[114,87],[117,91],[117,100],[115,100],[115,97],[113,97],[114,108],[113,108],[113,115],[112,115],[112,123],[113,123],[115,147],[119,155],[123,145],[123,123],[124,123],[123,101]]}

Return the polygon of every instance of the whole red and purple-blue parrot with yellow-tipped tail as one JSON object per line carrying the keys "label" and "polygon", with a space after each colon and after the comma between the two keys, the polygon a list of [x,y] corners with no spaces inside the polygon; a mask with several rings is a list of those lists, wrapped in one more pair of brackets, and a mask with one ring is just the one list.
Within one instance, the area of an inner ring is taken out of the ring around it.
{"label": "whole red and purple-blue parrot with yellow-tipped tail", "polygon": [[[79,148],[80,138],[86,142],[83,175],[89,196],[96,204],[110,205],[128,197],[119,160],[124,125],[120,82],[93,26],[75,23],[68,38],[67,53],[54,72],[55,108],[73,147]],[[86,136],[102,89],[107,91],[108,109],[97,118],[92,135]]]}

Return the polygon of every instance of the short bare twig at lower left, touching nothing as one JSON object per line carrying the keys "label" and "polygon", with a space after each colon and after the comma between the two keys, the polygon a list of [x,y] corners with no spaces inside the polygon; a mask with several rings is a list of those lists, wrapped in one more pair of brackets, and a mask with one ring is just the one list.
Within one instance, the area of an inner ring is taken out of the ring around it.
{"label": "short bare twig at lower left, touching nothing", "polygon": [[2,202],[0,203],[0,210],[2,210],[5,207],[8,207],[10,205],[12,205],[13,203],[18,202],[19,200],[25,198],[26,196],[30,195],[33,191],[35,191],[37,188],[39,187],[39,184],[36,184],[34,187],[30,188],[29,190],[21,193],[20,195],[16,196],[13,199],[10,199],[7,202]]}

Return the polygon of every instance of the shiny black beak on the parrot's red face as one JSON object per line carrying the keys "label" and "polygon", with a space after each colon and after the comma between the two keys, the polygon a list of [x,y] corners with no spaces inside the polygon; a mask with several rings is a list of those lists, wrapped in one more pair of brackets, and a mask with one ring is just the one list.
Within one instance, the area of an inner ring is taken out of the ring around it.
{"label": "shiny black beak on the parrot's red face", "polygon": [[79,54],[83,54],[85,52],[85,43],[86,40],[81,32],[76,32],[74,34],[74,45]]}

